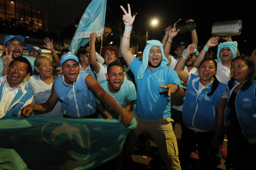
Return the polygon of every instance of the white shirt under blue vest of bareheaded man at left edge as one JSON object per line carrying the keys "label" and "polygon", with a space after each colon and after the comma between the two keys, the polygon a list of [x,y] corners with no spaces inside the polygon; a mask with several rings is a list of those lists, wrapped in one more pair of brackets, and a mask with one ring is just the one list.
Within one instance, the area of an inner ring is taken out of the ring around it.
{"label": "white shirt under blue vest of bareheaded man at left edge", "polygon": [[[0,100],[0,119],[3,118],[6,115],[6,113],[10,111],[11,102],[13,101],[14,97],[17,95],[19,90],[22,88],[23,83],[22,82],[21,84],[19,84],[19,86],[12,88],[6,81],[6,77],[3,79],[3,92]],[[21,109],[26,105],[31,104],[33,102],[33,99],[34,97],[27,100],[26,103],[21,107]],[[20,116],[20,114],[21,112],[19,111],[18,116]]]}

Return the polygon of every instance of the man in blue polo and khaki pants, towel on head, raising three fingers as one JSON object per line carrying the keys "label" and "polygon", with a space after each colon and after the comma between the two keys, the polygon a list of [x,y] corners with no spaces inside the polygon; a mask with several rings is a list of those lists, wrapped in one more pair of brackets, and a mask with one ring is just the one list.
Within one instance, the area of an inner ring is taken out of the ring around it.
{"label": "man in blue polo and khaki pants, towel on head, raising three fingers", "polygon": [[121,6],[125,15],[123,21],[125,31],[121,43],[121,53],[134,74],[137,85],[137,104],[134,110],[137,118],[137,128],[128,135],[125,153],[131,153],[136,138],[148,131],[154,138],[167,169],[181,169],[178,159],[178,147],[171,122],[170,94],[176,97],[185,96],[177,73],[167,67],[168,60],[163,53],[163,45],[158,40],[147,41],[143,52],[143,61],[139,61],[129,51],[130,35],[135,13],[131,16],[130,5],[128,12]]}

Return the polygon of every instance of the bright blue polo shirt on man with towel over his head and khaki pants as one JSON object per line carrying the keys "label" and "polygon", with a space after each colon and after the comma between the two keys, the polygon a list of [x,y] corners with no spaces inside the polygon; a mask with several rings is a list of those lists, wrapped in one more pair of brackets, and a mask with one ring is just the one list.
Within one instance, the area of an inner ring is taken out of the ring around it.
{"label": "bright blue polo shirt on man with towel over his head and khaki pants", "polygon": [[162,117],[171,117],[171,101],[168,90],[159,85],[177,83],[183,87],[176,71],[168,66],[161,65],[153,72],[147,67],[142,80],[137,79],[142,61],[134,57],[129,68],[134,74],[137,85],[137,104],[134,112],[144,120],[157,120]]}

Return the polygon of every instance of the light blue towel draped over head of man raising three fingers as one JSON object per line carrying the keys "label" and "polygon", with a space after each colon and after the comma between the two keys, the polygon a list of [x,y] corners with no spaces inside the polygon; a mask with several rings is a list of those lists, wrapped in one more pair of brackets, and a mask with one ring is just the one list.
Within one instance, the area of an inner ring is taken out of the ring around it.
{"label": "light blue towel draped over head of man raising three fingers", "polygon": [[163,45],[161,44],[161,42],[158,40],[147,41],[147,45],[145,46],[145,49],[143,51],[142,65],[139,68],[139,73],[137,76],[137,79],[139,79],[139,80],[142,80],[143,75],[147,69],[147,66],[149,65],[149,50],[151,49],[152,46],[159,46],[161,49],[161,53],[162,53],[161,66],[165,67],[169,63],[169,61],[165,57],[165,54],[163,54]]}

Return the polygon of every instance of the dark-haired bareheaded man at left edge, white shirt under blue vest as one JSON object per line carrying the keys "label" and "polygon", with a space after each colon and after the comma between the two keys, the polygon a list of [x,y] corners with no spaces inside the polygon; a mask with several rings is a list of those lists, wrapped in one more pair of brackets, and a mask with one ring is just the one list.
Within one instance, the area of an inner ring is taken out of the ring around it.
{"label": "dark-haired bareheaded man at left edge, white shirt under blue vest", "polygon": [[20,116],[20,109],[32,103],[34,94],[22,82],[31,72],[30,62],[17,57],[10,63],[7,75],[0,77],[0,119]]}

